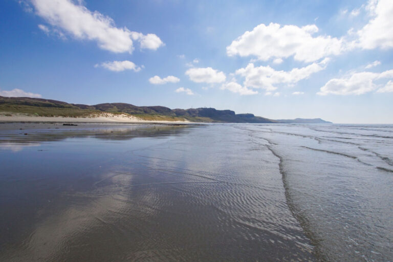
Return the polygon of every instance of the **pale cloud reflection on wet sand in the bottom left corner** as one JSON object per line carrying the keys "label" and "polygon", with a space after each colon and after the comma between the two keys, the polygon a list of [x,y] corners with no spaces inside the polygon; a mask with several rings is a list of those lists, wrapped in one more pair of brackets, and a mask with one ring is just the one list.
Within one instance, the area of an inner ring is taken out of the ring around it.
{"label": "pale cloud reflection on wet sand in the bottom left corner", "polygon": [[[73,247],[105,244],[84,242],[87,234],[101,232],[99,239],[114,239],[102,234],[115,230],[111,223],[114,216],[127,214],[129,201],[122,191],[132,179],[129,173],[105,174],[92,191],[65,195],[71,199],[71,206],[37,223],[24,244],[11,248],[5,256],[0,255],[0,260],[56,261]],[[108,185],[99,186],[104,183]]]}

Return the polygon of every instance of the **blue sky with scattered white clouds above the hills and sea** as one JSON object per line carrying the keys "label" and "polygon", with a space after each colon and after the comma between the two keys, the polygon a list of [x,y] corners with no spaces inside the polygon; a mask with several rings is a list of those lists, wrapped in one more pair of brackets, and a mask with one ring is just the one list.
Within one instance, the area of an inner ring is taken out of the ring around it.
{"label": "blue sky with scattered white clouds above the hills and sea", "polygon": [[393,123],[393,1],[5,0],[0,96]]}

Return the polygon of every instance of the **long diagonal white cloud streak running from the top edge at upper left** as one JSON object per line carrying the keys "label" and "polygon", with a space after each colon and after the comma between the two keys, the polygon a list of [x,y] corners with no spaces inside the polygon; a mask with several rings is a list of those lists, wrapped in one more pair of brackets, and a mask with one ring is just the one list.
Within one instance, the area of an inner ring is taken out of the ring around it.
{"label": "long diagonal white cloud streak running from the top edge at upper left", "polygon": [[31,3],[36,14],[57,30],[61,29],[77,39],[97,41],[104,50],[132,53],[133,40],[139,41],[142,49],[156,50],[163,45],[155,34],[143,35],[125,27],[117,28],[111,17],[98,11],[92,12],[71,0],[31,0]]}

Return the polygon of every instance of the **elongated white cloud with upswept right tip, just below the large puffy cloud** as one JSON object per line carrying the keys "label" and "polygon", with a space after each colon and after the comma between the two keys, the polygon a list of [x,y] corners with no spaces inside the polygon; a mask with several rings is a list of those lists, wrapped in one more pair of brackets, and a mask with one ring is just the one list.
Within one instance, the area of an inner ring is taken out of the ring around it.
{"label": "elongated white cloud with upswept right tip, just below the large puffy cloud", "polygon": [[276,71],[273,68],[264,66],[254,67],[249,63],[246,68],[236,70],[237,75],[245,77],[244,85],[247,88],[261,88],[267,91],[276,90],[276,84],[293,85],[298,81],[308,78],[313,73],[325,69],[329,58],[323,59],[319,63],[312,63],[303,68],[294,68],[291,71]]}

